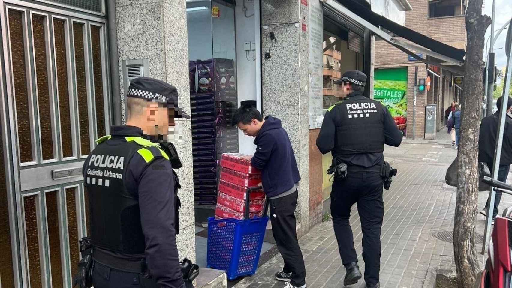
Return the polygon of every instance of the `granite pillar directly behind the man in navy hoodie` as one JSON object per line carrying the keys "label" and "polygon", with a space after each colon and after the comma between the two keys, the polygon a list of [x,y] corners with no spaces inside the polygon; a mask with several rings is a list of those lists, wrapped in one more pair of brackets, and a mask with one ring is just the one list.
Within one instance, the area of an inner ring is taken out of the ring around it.
{"label": "granite pillar directly behind the man in navy hoodie", "polygon": [[[311,1],[311,0],[310,0]],[[309,230],[308,6],[301,0],[262,0],[263,115],[278,117],[288,132],[301,174],[297,204],[299,236]],[[301,20],[302,19],[302,20]],[[270,38],[273,32],[275,40]],[[265,53],[270,54],[265,59]]]}

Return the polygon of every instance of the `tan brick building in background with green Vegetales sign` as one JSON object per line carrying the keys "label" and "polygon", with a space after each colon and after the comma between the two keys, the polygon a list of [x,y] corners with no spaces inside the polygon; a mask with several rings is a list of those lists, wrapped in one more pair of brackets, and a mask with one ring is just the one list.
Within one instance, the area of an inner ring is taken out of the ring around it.
{"label": "tan brick building in background with green Vegetales sign", "polygon": [[[466,5],[464,1],[410,0],[409,3],[412,10],[406,12],[406,27],[446,45],[465,50]],[[424,53],[415,53],[424,59],[432,58]],[[429,91],[418,91],[416,103],[414,103],[416,69],[417,79],[430,79],[426,83],[428,86],[430,82],[430,87]],[[375,74],[377,84],[375,84],[374,97],[388,101],[389,107],[393,110],[393,116],[402,115],[407,119],[404,129],[408,138],[425,137],[426,105],[437,105],[436,126],[439,130],[446,124],[446,109],[452,105],[453,101],[460,101],[463,95],[462,84],[455,82],[455,77],[462,76],[460,71],[450,71],[422,63],[382,40],[375,41]],[[397,94],[402,97],[401,103],[392,103],[392,98]],[[413,115],[415,115],[414,129]]]}

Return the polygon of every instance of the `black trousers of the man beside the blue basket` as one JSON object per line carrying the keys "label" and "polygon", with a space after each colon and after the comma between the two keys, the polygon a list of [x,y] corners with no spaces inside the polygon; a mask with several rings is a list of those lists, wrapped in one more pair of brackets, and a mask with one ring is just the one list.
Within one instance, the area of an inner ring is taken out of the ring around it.
{"label": "black trousers of the man beside the blue basket", "polygon": [[292,273],[291,284],[297,287],[306,284],[306,268],[301,248],[298,246],[295,224],[298,192],[269,201],[270,222],[276,246],[283,257],[283,271]]}

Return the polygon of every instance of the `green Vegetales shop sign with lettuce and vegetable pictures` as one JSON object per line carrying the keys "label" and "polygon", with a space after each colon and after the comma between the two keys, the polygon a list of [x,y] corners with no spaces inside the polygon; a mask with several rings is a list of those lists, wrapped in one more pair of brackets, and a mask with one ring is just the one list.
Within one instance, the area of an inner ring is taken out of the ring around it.
{"label": "green Vegetales shop sign with lettuce and vegetable pictures", "polygon": [[388,107],[403,135],[407,132],[407,68],[376,69],[373,98]]}

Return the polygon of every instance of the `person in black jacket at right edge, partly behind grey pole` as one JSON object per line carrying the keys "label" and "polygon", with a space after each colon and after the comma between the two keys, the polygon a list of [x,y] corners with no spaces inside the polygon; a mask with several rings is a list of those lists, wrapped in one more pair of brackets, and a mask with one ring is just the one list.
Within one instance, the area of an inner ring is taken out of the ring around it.
{"label": "person in black jacket at right edge, partly behind grey pole", "polygon": [[[503,97],[498,98],[498,111],[490,116],[482,119],[480,123],[480,137],[478,138],[478,161],[487,163],[490,169],[493,169],[496,138],[498,137],[498,122],[500,117],[500,109]],[[512,118],[508,113],[512,110],[512,98],[507,97],[507,114],[505,114],[505,130],[503,131],[503,142],[501,146],[500,166],[498,167],[498,181],[506,182],[510,164],[512,164]],[[493,188],[494,189],[494,188]],[[498,206],[501,201],[501,192],[495,190],[496,197],[494,200],[493,219],[498,215]],[[487,198],[485,208],[480,214],[487,217],[489,213],[490,194]]]}

